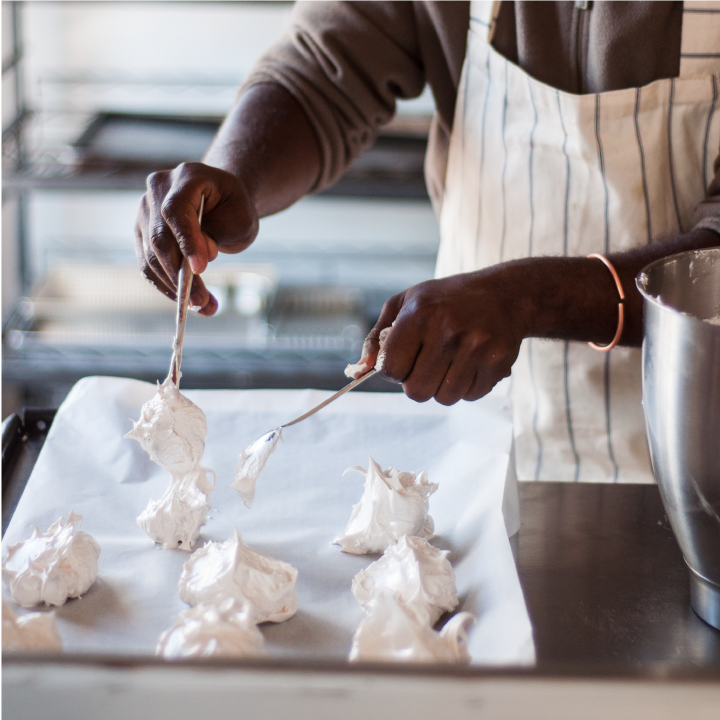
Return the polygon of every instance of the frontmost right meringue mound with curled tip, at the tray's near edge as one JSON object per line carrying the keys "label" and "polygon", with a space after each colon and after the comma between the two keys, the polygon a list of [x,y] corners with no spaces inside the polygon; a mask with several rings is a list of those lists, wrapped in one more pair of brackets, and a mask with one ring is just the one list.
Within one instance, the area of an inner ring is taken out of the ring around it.
{"label": "frontmost right meringue mound with curled tip, at the tray's near edge", "polygon": [[353,636],[349,660],[363,662],[468,663],[467,629],[475,618],[467,612],[450,618],[438,633],[420,623],[389,591],[370,601],[369,615]]}

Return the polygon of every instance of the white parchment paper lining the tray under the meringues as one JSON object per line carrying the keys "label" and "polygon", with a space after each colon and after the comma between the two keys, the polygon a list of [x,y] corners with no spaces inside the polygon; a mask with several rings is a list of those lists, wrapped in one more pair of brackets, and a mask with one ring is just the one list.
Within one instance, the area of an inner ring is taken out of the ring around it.
{"label": "white parchment paper lining the tray under the meringues", "polygon": [[[124,440],[153,385],[91,377],[72,390],[53,422],[3,540],[46,530],[70,510],[100,543],[99,576],[84,597],[57,610],[66,651],[152,654],[160,633],[187,606],[177,591],[189,554],[162,550],[135,519],[159,499],[169,475],[140,445]],[[186,391],[208,419],[203,463],[217,473],[213,508],[200,537],[225,540],[237,527],[251,547],[294,565],[299,610],[261,626],[271,656],[344,660],[364,617],[352,578],[373,559],[340,551],[340,535],[363,477],[343,471],[383,466],[427,470],[436,547],[451,551],[460,607],[477,618],[474,663],[534,661],[532,631],[501,513],[512,442],[509,401],[491,394],[446,408],[401,393],[349,393],[284,432],[261,474],[253,509],[229,487],[241,450],[329,393],[316,390]],[[3,592],[7,594],[7,589]],[[42,609],[42,608],[41,608]]]}

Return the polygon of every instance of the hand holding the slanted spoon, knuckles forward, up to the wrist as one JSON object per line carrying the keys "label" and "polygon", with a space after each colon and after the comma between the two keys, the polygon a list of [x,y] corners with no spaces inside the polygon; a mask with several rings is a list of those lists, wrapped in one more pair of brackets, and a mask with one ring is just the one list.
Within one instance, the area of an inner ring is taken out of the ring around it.
{"label": "hand holding the slanted spoon, knuckles forward, up to the wrist", "polygon": [[380,333],[392,326],[382,373],[408,397],[477,400],[510,375],[517,358],[528,329],[517,297],[493,269],[420,283],[385,303],[363,355],[375,365]]}

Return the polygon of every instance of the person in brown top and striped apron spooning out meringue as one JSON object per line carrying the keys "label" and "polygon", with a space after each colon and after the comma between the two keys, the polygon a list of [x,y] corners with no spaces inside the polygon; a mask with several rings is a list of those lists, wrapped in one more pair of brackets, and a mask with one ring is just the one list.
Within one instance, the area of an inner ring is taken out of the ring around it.
{"label": "person in brown top and striped apron spooning out meringue", "polygon": [[436,278],[387,301],[365,362],[392,327],[385,376],[446,405],[512,369],[521,479],[652,481],[634,278],[720,244],[718,49],[720,0],[298,0],[204,162],[148,178],[142,271],[174,299],[186,256],[211,315],[208,262],[427,83]]}

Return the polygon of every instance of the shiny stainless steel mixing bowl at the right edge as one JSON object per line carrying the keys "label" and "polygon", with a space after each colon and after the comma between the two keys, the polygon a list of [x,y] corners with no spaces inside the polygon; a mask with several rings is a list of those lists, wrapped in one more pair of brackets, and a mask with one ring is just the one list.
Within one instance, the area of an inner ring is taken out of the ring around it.
{"label": "shiny stainless steel mixing bowl at the right edge", "polygon": [[693,609],[720,629],[720,248],[657,260],[636,284],[653,471]]}

